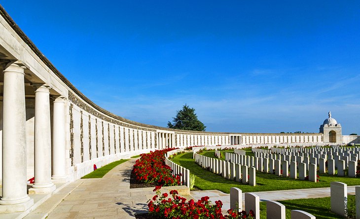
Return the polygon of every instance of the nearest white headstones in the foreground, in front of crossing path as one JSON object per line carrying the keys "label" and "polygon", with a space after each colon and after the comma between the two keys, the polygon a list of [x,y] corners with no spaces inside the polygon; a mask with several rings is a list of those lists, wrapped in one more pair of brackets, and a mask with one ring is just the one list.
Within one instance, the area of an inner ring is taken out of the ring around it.
{"label": "nearest white headstones in the foreground, in front of crossing path", "polygon": [[[356,192],[356,218],[360,218],[360,186],[355,187]],[[230,208],[242,211],[242,191],[239,188],[230,188]],[[331,212],[347,217],[348,215],[348,189],[347,184],[340,182],[330,183]],[[260,198],[254,193],[245,193],[245,211],[252,210],[255,219],[260,219]],[[266,201],[266,217],[269,219],[285,219],[285,206],[276,201]],[[315,219],[315,216],[300,210],[291,211],[291,219]]]}

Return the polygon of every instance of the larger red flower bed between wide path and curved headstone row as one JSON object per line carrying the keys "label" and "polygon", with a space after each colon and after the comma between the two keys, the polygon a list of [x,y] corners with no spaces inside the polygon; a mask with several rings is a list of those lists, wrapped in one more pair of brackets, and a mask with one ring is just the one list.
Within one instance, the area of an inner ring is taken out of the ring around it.
{"label": "larger red flower bed between wide path and curved headstone row", "polygon": [[162,186],[180,185],[180,176],[173,175],[170,167],[165,165],[165,153],[174,149],[177,148],[166,148],[141,154],[141,158],[136,161],[133,168],[136,181]]}

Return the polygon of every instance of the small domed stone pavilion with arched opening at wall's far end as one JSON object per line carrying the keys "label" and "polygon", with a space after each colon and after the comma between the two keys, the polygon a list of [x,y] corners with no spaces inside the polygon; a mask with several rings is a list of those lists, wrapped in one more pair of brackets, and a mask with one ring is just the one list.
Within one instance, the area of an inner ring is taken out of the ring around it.
{"label": "small domed stone pavilion with arched opening at wall's far end", "polygon": [[320,132],[324,134],[324,142],[342,143],[341,125],[337,123],[336,119],[331,117],[331,111],[328,113],[329,117],[324,120],[320,126]]}

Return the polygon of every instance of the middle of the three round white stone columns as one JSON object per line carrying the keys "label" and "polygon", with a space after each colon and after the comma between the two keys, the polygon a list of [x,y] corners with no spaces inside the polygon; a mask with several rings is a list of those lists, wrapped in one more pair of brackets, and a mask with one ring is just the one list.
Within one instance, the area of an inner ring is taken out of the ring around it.
{"label": "middle of the three round white stone columns", "polygon": [[46,84],[35,91],[34,172],[35,183],[29,193],[55,190],[51,182],[50,87]]}

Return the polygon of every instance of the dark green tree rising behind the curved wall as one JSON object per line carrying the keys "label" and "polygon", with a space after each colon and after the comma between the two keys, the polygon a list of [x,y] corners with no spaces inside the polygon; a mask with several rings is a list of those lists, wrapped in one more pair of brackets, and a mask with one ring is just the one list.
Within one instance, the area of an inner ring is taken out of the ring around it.
{"label": "dark green tree rising behind the curved wall", "polygon": [[176,116],[173,117],[173,124],[168,121],[168,128],[205,131],[206,126],[199,121],[194,108],[189,108],[186,104],[182,110],[177,111]]}

